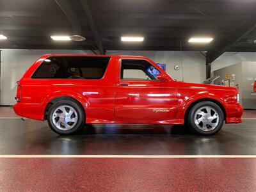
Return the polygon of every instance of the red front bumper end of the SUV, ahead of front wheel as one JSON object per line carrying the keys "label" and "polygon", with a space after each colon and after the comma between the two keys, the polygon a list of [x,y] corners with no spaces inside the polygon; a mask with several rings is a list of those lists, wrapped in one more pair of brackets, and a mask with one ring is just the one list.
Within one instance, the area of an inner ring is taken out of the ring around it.
{"label": "red front bumper end of the SUV, ahead of front wheel", "polygon": [[227,108],[226,124],[239,124],[242,122],[244,108],[241,104],[230,105]]}

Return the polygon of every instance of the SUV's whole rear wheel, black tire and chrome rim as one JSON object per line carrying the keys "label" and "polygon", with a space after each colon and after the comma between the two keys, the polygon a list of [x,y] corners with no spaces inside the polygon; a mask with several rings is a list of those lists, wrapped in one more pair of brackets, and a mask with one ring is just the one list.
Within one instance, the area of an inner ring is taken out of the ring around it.
{"label": "SUV's whole rear wheel, black tire and chrome rim", "polygon": [[84,125],[84,111],[72,100],[61,100],[49,109],[47,121],[52,131],[58,134],[72,134]]}

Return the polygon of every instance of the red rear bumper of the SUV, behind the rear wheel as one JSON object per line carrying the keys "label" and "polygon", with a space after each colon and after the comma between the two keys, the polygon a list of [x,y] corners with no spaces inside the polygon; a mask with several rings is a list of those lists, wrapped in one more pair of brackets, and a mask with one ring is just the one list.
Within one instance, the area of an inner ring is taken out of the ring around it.
{"label": "red rear bumper of the SUV, behind the rear wheel", "polygon": [[44,107],[41,104],[17,102],[13,106],[13,110],[19,116],[33,118],[36,120],[44,120]]}

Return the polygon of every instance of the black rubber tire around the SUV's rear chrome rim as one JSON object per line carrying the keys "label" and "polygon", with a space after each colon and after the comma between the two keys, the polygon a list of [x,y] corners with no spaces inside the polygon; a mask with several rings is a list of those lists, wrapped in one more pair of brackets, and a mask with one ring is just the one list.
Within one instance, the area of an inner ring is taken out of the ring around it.
{"label": "black rubber tire around the SUV's rear chrome rim", "polygon": [[[52,121],[52,116],[54,111],[60,106],[70,106],[76,111],[77,122],[74,125],[74,127],[72,127],[72,129],[61,130],[58,127],[56,127],[56,125],[54,125],[54,122]],[[51,108],[49,109],[49,113],[47,115],[47,122],[49,124],[49,127],[51,127],[52,131],[58,134],[74,134],[84,126],[84,118],[85,118],[84,111],[81,108],[81,106],[77,104],[77,102],[74,102],[73,100],[60,100],[52,104]]]}

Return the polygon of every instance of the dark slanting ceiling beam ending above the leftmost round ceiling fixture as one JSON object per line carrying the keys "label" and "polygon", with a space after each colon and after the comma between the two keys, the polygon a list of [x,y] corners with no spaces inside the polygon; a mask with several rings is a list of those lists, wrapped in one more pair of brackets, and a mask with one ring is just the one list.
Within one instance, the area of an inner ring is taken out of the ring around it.
{"label": "dark slanting ceiling beam ending above the leftmost round ceiling fixture", "polygon": [[74,10],[67,0],[55,0],[62,12],[67,16],[73,27],[73,35],[81,35],[81,24],[79,24]]}

